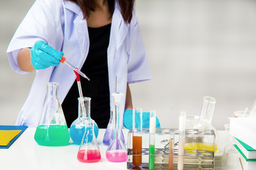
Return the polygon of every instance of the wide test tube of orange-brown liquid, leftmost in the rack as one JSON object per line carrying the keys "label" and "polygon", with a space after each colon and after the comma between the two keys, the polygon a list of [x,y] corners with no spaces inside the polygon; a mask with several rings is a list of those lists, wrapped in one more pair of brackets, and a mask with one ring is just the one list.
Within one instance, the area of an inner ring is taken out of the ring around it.
{"label": "wide test tube of orange-brown liquid, leftmost in the rack", "polygon": [[132,164],[140,166],[142,164],[142,108],[132,109],[132,129]]}

